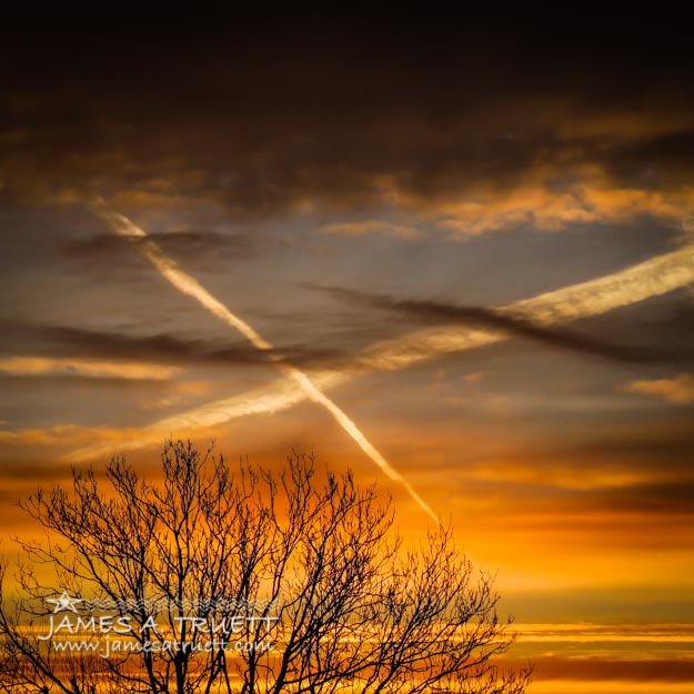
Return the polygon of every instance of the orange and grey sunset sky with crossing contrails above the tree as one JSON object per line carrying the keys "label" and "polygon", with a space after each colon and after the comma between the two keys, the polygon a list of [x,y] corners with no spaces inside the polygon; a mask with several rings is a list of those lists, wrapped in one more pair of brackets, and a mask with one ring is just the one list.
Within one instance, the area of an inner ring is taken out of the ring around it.
{"label": "orange and grey sunset sky with crossing contrails above the tree", "polygon": [[451,523],[535,691],[686,691],[690,41],[583,19],[3,28],[3,551],[72,464],[313,451]]}

